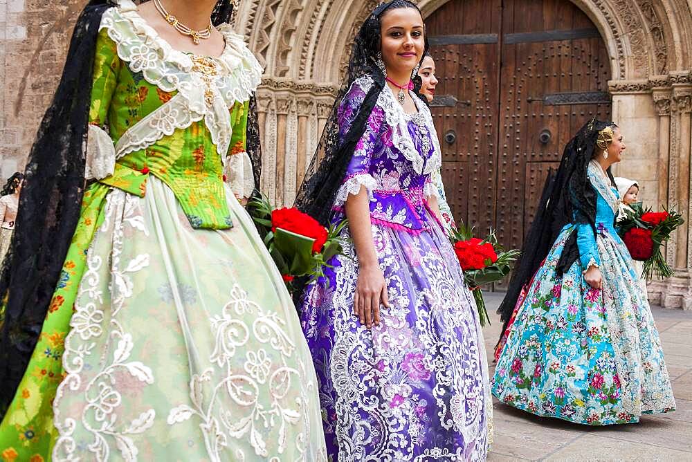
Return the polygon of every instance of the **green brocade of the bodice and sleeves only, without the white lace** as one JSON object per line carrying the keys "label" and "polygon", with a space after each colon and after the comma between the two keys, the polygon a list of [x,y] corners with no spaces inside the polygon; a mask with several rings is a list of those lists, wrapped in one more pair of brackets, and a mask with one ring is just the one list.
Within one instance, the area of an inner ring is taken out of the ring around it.
{"label": "green brocade of the bodice and sleeves only, without the white lace", "polygon": [[[141,73],[132,73],[118,58],[116,44],[107,30],[101,30],[89,116],[100,127],[107,122],[113,142],[117,143],[127,129],[174,95],[176,92],[167,93],[150,84]],[[234,151],[244,150],[247,107],[248,102],[236,102],[230,109],[230,146]],[[233,226],[226,205],[221,157],[203,121],[119,158],[113,175],[100,182],[144,196],[149,174],[171,188],[192,228],[222,230]]]}

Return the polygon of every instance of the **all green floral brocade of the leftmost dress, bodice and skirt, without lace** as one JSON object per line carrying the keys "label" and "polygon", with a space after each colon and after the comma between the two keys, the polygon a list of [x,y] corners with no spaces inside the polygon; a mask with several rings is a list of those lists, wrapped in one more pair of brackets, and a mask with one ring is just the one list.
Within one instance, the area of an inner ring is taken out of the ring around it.
{"label": "all green floral brocade of the leftmost dress, bodice and skirt, without lace", "polygon": [[[118,142],[129,127],[168,102],[176,94],[149,84],[132,73],[118,58],[107,30],[97,43],[90,111],[91,124],[106,129]],[[244,151],[248,102],[230,109],[233,137],[228,154]],[[192,228],[222,230],[233,227],[224,191],[221,157],[203,121],[154,145],[116,160],[113,175],[92,183],[82,203],[82,214],[53,295],[41,336],[21,381],[17,395],[0,424],[0,460],[49,460],[57,430],[53,425],[53,400],[64,378],[62,355],[70,331],[73,305],[84,276],[86,252],[104,219],[108,193],[113,187],[143,197],[147,178],[160,178],[174,193]],[[104,294],[107,296],[107,294]]]}

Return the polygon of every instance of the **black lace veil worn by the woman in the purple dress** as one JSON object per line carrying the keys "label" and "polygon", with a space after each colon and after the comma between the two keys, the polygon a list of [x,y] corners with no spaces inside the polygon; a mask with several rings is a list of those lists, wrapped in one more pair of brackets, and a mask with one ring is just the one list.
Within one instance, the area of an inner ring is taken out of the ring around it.
{"label": "black lace veil worn by the woman in the purple dress", "polygon": [[[418,10],[418,7],[408,0],[392,0],[376,6],[363,22],[363,26],[354,40],[347,75],[336,95],[334,106],[331,108],[329,118],[327,118],[325,129],[322,131],[320,144],[295,199],[295,207],[313,216],[322,225],[329,224],[331,207],[334,205],[336,193],[341,186],[356,144],[365,133],[367,118],[370,117],[380,92],[385,86],[385,76],[376,65],[376,55],[380,48],[381,39],[380,18],[389,8],[415,8]],[[427,37],[425,51],[428,51]],[[374,84],[365,95],[361,107],[356,111],[349,131],[343,139],[340,139],[338,109],[353,82],[365,75],[372,77]],[[421,84],[420,77],[417,77],[414,83],[415,91],[418,93]],[[421,99],[424,100],[425,98]]]}

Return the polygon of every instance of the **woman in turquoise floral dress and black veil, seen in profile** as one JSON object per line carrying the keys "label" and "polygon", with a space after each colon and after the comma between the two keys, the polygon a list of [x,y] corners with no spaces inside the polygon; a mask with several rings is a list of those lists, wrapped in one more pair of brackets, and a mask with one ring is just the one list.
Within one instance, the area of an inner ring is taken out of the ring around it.
{"label": "woman in turquoise floral dress and black veil, seen in profile", "polygon": [[[614,228],[610,166],[624,149],[615,124],[592,120],[547,185],[500,307],[506,322],[513,319],[493,379],[503,403],[586,425],[675,409],[650,307]],[[558,235],[548,247],[552,230]]]}

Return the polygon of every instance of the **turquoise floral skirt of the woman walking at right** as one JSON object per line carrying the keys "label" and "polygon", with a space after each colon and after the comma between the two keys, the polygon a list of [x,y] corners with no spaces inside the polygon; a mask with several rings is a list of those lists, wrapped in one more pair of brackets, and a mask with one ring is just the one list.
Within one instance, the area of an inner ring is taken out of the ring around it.
{"label": "turquoise floral skirt of the woman walking at right", "polygon": [[579,261],[559,277],[573,229],[563,229],[520,301],[493,394],[531,414],[587,425],[674,410],[658,331],[627,248],[617,234],[599,230],[603,290],[586,284]]}

